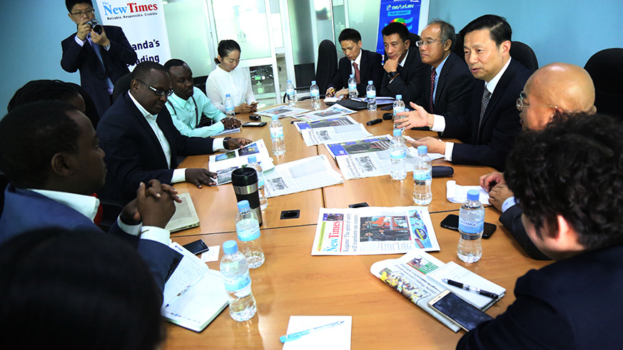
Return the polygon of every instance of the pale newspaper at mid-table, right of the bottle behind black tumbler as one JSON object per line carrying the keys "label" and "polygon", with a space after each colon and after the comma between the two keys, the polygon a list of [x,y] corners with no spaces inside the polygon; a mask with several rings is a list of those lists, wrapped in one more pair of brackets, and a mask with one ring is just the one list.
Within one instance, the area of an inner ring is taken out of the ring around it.
{"label": "pale newspaper at mid-table, right of the bottle behind black tumbler", "polygon": [[266,197],[289,195],[342,182],[342,175],[333,170],[326,155],[280,164],[264,173]]}

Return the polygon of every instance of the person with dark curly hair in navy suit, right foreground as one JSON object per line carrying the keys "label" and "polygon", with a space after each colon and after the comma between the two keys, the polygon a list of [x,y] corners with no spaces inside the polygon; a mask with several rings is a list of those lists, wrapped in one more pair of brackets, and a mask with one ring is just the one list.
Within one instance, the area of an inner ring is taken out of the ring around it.
{"label": "person with dark curly hair in navy suit, right foreground", "polygon": [[528,237],[555,260],[517,279],[513,304],[457,349],[620,349],[623,130],[605,115],[523,133],[505,177]]}

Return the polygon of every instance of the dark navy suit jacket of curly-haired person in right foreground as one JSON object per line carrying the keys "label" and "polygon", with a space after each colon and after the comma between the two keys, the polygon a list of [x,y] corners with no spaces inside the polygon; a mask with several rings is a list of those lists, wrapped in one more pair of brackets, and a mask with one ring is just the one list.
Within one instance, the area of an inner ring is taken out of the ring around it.
{"label": "dark navy suit jacket of curly-haired person in right foreground", "polygon": [[585,252],[517,279],[504,314],[457,349],[620,349],[623,246]]}

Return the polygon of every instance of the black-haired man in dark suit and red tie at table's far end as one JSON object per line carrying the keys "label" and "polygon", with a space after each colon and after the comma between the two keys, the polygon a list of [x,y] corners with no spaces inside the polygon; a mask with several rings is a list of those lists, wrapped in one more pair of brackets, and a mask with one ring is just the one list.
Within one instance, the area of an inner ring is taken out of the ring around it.
{"label": "black-haired man in dark suit and red tie at table's far end", "polygon": [[380,91],[380,84],[383,81],[382,57],[378,53],[361,48],[361,35],[355,29],[344,29],[338,40],[346,57],[340,58],[338,71],[335,72],[325,96],[348,96],[348,78],[351,74],[357,82],[359,96],[365,96],[368,81],[373,81],[376,91]]}

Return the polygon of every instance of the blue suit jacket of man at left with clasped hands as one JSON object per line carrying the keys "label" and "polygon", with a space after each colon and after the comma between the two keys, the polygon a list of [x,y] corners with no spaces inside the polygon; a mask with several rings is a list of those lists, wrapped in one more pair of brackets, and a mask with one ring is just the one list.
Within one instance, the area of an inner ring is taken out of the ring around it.
{"label": "blue suit jacket of man at left with clasped hands", "polygon": [[[14,185],[6,187],[4,213],[0,217],[0,244],[16,235],[48,227],[61,227],[85,235],[105,235],[88,217],[62,203]],[[136,247],[162,291],[166,278],[181,260],[181,254],[159,242],[139,240],[136,236],[128,235],[116,222],[108,234],[121,237]]]}

